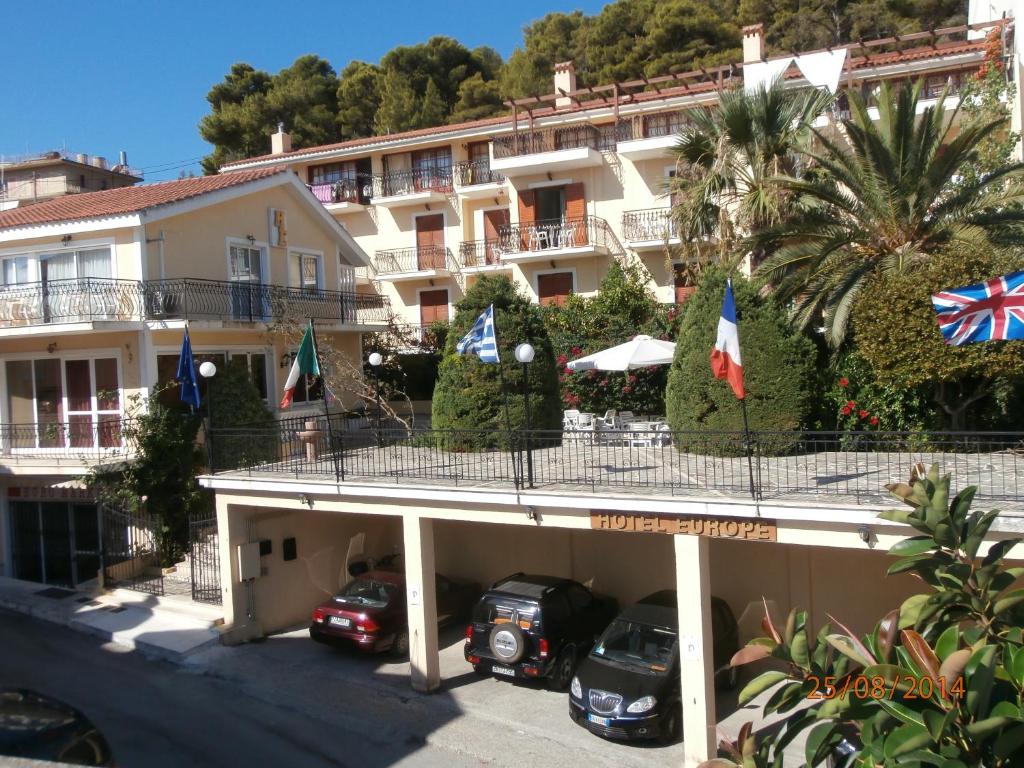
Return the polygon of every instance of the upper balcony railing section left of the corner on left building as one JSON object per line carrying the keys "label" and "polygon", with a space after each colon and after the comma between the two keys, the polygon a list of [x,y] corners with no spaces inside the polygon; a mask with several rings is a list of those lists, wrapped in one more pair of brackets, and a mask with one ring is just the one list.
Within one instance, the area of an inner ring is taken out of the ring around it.
{"label": "upper balcony railing section left of the corner on left building", "polygon": [[51,280],[0,287],[0,327],[138,319],[139,284],[109,278]]}

